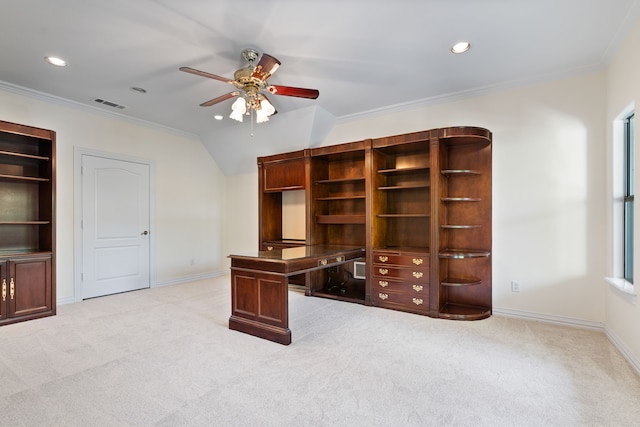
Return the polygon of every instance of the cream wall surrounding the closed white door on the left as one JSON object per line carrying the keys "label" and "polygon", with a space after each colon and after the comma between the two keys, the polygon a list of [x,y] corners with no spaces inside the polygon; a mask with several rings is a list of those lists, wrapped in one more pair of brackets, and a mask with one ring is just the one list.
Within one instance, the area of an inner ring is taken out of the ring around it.
{"label": "cream wall surrounding the closed white door on the left", "polygon": [[7,90],[0,90],[0,118],[56,131],[59,302],[74,300],[74,147],[154,163],[157,283],[226,272],[226,178],[198,138]]}

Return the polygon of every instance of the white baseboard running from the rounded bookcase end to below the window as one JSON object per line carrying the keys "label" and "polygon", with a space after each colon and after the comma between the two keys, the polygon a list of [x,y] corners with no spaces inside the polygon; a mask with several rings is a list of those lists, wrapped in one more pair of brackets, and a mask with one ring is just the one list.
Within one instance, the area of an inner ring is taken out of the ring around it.
{"label": "white baseboard running from the rounded bookcase end to below the window", "polygon": [[593,329],[602,331],[611,344],[622,354],[629,365],[640,374],[640,359],[627,347],[624,342],[610,330],[605,323],[594,322],[591,320],[574,319],[571,317],[553,316],[550,314],[534,313],[522,310],[509,310],[506,308],[493,308],[493,314],[498,316],[513,317],[518,319],[536,320],[539,322],[555,323],[564,326],[573,326],[578,328]]}

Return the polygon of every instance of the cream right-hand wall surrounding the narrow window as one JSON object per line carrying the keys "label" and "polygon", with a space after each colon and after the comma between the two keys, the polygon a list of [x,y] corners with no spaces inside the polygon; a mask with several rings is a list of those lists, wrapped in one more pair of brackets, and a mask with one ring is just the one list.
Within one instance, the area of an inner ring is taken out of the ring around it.
{"label": "cream right-hand wall surrounding the narrow window", "polygon": [[[636,153],[638,147],[638,107],[640,107],[640,56],[638,55],[638,44],[640,43],[640,22],[636,24],[630,35],[625,40],[623,46],[617,52],[609,69],[607,70],[607,166],[608,166],[608,183],[612,182],[613,173],[621,171],[613,170],[611,167],[611,153],[613,145],[613,121],[627,107],[635,104],[636,112]],[[638,157],[636,155],[636,168],[638,168]],[[635,188],[640,188],[640,174],[636,173]],[[607,193],[607,207],[611,208],[612,194]],[[611,211],[606,223],[608,234],[608,250],[611,250]],[[640,210],[636,208],[634,221],[640,224]],[[638,250],[638,242],[640,242],[640,230],[635,229],[635,258],[634,277],[638,277],[640,268],[640,250]],[[609,258],[607,275],[611,275],[613,265]],[[636,279],[636,294],[638,293],[638,284]],[[637,299],[637,297],[636,297]],[[635,360],[636,367],[640,369],[640,306],[634,303],[628,296],[620,293],[612,287],[606,288],[606,311],[607,311],[607,331],[614,340],[618,341],[619,346],[627,353],[627,357]]]}

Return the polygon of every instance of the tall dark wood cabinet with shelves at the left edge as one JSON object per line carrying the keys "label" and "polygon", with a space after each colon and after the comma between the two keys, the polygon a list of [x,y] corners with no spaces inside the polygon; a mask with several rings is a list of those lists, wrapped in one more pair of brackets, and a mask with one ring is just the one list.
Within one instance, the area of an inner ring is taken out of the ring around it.
{"label": "tall dark wood cabinet with shelves at the left edge", "polygon": [[53,315],[55,132],[0,121],[0,325]]}

